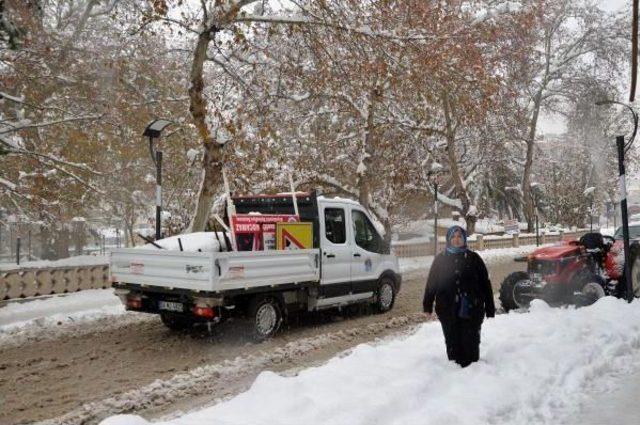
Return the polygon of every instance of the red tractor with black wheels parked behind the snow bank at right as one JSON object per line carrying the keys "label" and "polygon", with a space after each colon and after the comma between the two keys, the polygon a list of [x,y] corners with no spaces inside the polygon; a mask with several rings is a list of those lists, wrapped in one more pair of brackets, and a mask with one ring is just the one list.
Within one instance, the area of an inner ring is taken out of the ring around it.
{"label": "red tractor with black wheels parked behind the snow bank at right", "polygon": [[[605,295],[625,293],[622,240],[587,233],[579,241],[564,241],[540,248],[527,257],[526,272],[511,273],[500,287],[505,311],[528,307],[534,299],[551,305],[589,305]],[[633,232],[631,237],[634,237]],[[640,244],[632,241],[631,276],[633,291],[640,296]]]}

